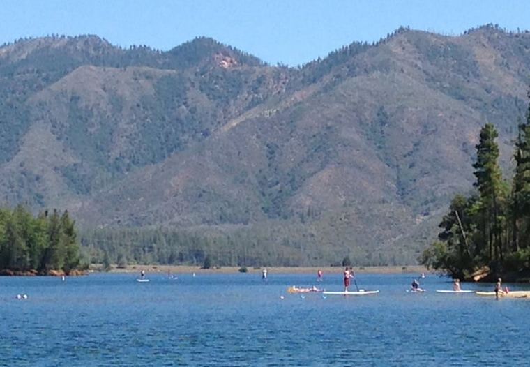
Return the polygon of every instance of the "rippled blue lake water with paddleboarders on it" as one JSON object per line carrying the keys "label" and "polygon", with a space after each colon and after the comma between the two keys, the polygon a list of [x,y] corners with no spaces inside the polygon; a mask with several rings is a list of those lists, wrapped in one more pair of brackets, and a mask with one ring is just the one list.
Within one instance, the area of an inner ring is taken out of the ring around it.
{"label": "rippled blue lake water with paddleboarders on it", "polygon": [[266,282],[260,274],[2,277],[0,366],[528,366],[530,299],[437,294],[451,284],[434,275],[421,279],[427,292],[411,294],[414,275],[358,274],[359,287],[381,292],[326,298],[286,288],[341,290],[341,274],[321,283],[270,273]]}

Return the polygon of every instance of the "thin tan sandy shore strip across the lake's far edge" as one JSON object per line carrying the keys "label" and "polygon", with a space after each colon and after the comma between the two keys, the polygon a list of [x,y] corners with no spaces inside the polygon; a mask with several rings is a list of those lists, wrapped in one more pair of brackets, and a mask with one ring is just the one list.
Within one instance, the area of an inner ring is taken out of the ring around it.
{"label": "thin tan sandy shore strip across the lake's far edge", "polygon": [[[343,267],[266,267],[269,274],[273,273],[315,273],[320,269],[326,273],[342,273]],[[262,267],[247,267],[249,273],[261,273]],[[395,273],[432,273],[425,267],[418,265],[407,265],[398,267],[353,267],[356,273],[376,273],[376,274],[395,274]],[[239,267],[220,267],[219,269],[201,269],[200,267],[191,267],[183,265],[128,265],[123,269],[112,268],[112,272],[134,273],[139,271],[146,273],[237,273]]]}

